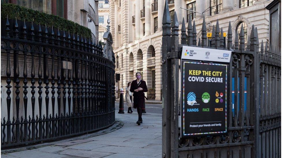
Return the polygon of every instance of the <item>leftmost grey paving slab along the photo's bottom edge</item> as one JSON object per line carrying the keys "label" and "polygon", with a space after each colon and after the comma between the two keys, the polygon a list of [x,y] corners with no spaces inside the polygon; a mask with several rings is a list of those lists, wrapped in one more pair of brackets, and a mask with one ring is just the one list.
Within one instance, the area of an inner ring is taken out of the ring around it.
{"label": "leftmost grey paving slab along the photo's bottom edge", "polygon": [[15,156],[15,157],[23,157],[23,158],[34,158],[34,157],[40,157],[40,158],[60,158],[60,157],[67,157],[67,155],[60,155],[60,154],[53,154],[53,153],[46,153],[42,151],[18,151],[14,153],[7,153],[7,155]]}

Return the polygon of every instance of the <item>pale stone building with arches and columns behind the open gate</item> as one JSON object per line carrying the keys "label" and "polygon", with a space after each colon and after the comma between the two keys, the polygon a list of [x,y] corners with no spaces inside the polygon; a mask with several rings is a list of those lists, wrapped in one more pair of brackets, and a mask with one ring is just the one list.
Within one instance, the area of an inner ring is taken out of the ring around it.
{"label": "pale stone building with arches and columns behind the open gate", "polygon": [[[224,33],[227,33],[229,21],[233,35],[236,30],[239,34],[243,26],[245,39],[250,36],[251,26],[255,25],[261,42],[261,40],[268,41],[269,39],[269,11],[265,7],[270,2],[266,0],[168,0],[168,6],[171,19],[175,13],[177,14],[179,28],[183,18],[186,29],[189,16],[192,22],[195,21],[197,39],[201,37],[203,17],[205,17],[208,36],[212,33],[212,26],[216,25],[218,19]],[[141,72],[142,78],[151,90],[146,96],[161,100],[162,18],[165,0],[110,0],[109,3],[116,73],[120,73],[118,88],[125,88],[127,82],[135,79],[135,73]],[[180,7],[203,14],[190,12]],[[179,35],[181,35],[180,30]],[[235,36],[233,36],[234,40]]]}

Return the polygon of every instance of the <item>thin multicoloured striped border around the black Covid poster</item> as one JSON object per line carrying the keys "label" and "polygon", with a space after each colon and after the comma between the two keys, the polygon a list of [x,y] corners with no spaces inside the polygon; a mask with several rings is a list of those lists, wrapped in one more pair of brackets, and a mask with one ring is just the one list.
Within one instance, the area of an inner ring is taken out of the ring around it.
{"label": "thin multicoloured striped border around the black Covid poster", "polygon": [[[185,63],[192,63],[192,64],[207,64],[207,65],[222,65],[222,66],[226,66],[226,75],[225,75],[225,131],[222,132],[206,132],[206,133],[193,133],[193,134],[185,134],[185,123],[184,123],[184,69],[185,69]],[[190,136],[190,135],[198,135],[198,134],[213,134],[213,133],[225,133],[227,132],[227,65],[226,64],[215,64],[215,63],[202,63],[202,62],[183,62],[183,117],[182,117],[182,121],[181,123],[183,123],[183,136]],[[182,131],[181,131],[182,132]]]}

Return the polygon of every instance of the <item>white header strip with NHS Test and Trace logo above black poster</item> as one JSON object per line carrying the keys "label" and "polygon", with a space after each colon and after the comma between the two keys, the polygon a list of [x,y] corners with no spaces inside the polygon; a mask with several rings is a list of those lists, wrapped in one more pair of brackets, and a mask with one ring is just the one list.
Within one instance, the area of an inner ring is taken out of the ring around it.
{"label": "white header strip with NHS Test and Trace logo above black poster", "polygon": [[183,46],[181,59],[230,62],[231,51]]}

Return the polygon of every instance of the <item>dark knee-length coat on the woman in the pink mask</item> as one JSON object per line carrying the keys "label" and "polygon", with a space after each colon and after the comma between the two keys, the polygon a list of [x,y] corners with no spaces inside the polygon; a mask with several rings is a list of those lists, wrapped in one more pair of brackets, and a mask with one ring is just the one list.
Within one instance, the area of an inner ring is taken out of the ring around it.
{"label": "dark knee-length coat on the woman in the pink mask", "polygon": [[[138,87],[143,88],[143,90],[139,92],[134,92],[134,90],[136,90]],[[138,108],[138,107],[145,108],[144,107],[144,102],[145,102],[144,92],[148,92],[146,82],[141,80],[141,83],[138,86],[137,79],[133,80],[131,82],[130,92],[133,93],[133,108]]]}

